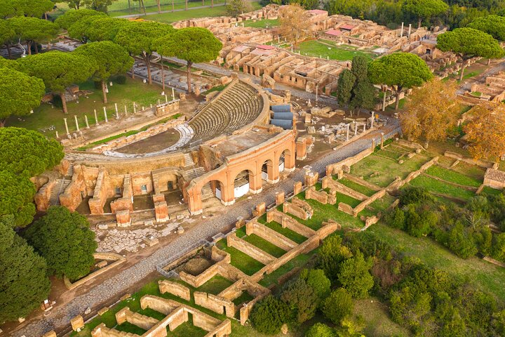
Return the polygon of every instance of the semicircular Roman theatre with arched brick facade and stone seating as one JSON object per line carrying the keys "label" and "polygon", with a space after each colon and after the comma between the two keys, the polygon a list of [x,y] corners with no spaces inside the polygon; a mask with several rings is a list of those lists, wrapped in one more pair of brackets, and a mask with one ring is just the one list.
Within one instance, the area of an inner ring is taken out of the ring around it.
{"label": "semicircular Roman theatre with arched brick facade and stone seating", "polygon": [[179,191],[192,214],[201,213],[210,197],[230,205],[243,194],[261,192],[263,180],[277,183],[281,171],[295,169],[296,131],[269,124],[273,97],[251,81],[234,79],[194,117],[172,122],[188,130],[177,148],[121,154],[113,141],[100,147],[102,154],[73,154],[72,179],[48,179],[36,195],[37,207],[61,204],[75,211],[86,203],[90,214],[110,212],[117,225],[128,226],[135,197],[145,194],[152,195],[156,220],[164,222],[170,218],[170,192]]}

